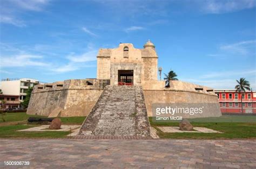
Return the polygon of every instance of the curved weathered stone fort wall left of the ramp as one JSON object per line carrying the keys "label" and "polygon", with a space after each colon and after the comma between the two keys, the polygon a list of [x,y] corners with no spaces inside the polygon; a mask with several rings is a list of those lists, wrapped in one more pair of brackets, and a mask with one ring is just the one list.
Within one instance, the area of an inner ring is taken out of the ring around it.
{"label": "curved weathered stone fort wall left of the ramp", "polygon": [[104,86],[109,84],[109,80],[76,79],[36,85],[27,114],[53,117],[87,116]]}

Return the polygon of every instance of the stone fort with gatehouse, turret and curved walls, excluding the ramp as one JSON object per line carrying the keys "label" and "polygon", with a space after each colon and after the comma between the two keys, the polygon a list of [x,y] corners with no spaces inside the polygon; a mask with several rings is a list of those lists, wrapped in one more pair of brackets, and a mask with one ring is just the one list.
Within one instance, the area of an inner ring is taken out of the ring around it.
{"label": "stone fort with gatehouse, turret and curved walls, excluding the ramp", "polygon": [[96,79],[71,79],[36,85],[27,113],[49,117],[87,116],[106,85],[131,85],[142,86],[149,117],[153,116],[152,105],[166,103],[198,103],[205,106],[212,103],[206,113],[193,118],[221,116],[218,97],[210,87],[180,80],[172,80],[170,87],[165,87],[165,82],[158,80],[157,73],[158,56],[150,41],[143,49],[136,49],[130,43],[120,43],[114,49],[99,49]]}

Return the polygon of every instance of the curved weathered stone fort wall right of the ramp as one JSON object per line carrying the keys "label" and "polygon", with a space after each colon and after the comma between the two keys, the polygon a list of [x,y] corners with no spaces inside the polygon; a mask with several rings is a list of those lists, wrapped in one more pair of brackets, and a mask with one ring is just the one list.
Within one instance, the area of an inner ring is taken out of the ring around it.
{"label": "curved weathered stone fort wall right of the ramp", "polygon": [[[184,118],[219,117],[221,116],[217,95],[211,88],[181,81],[170,81],[170,87],[165,88],[164,81],[145,81],[143,92],[147,107],[147,115],[152,117],[154,104],[200,104],[205,112]],[[199,90],[198,90],[199,89]]]}

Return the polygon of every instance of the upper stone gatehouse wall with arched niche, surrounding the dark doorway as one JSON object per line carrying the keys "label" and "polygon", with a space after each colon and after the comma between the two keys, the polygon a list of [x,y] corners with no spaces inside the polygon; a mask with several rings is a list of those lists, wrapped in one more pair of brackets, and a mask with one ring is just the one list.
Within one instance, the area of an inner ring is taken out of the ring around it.
{"label": "upper stone gatehouse wall with arched niche, surrounding the dark doorway", "polygon": [[136,49],[131,43],[121,43],[118,48],[99,50],[97,79],[111,79],[111,85],[118,85],[118,70],[133,70],[134,85],[141,85],[144,80],[157,80],[157,62],[153,48]]}

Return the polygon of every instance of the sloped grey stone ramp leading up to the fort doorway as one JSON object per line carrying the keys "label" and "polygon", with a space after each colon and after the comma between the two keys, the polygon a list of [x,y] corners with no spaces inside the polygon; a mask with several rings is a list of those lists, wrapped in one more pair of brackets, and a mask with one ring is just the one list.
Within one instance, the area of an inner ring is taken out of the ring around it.
{"label": "sloped grey stone ramp leading up to the fort doorway", "polygon": [[150,137],[142,86],[106,86],[78,135]]}

